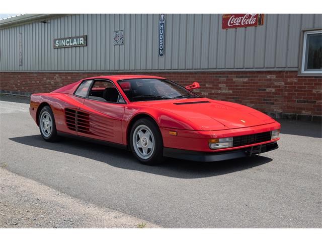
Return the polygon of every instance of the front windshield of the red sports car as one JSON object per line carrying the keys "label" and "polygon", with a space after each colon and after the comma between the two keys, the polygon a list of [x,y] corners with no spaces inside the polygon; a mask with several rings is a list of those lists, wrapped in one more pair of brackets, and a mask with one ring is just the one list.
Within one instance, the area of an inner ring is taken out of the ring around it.
{"label": "front windshield of the red sports car", "polygon": [[166,79],[137,78],[119,80],[118,83],[130,102],[199,97]]}

